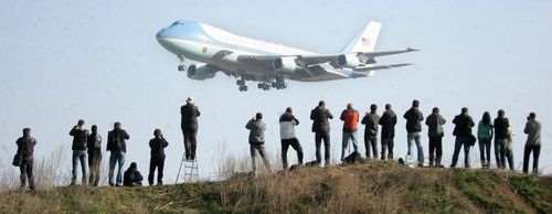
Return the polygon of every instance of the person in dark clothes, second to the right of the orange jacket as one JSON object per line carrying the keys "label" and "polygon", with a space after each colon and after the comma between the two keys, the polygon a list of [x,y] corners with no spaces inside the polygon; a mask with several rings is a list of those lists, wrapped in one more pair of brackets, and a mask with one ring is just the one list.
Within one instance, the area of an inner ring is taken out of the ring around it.
{"label": "person in dark clothes, second to the right of the orange jacket", "polygon": [[385,105],[385,113],[381,116],[379,124],[381,125],[381,159],[393,159],[396,115],[391,109],[391,104]]}

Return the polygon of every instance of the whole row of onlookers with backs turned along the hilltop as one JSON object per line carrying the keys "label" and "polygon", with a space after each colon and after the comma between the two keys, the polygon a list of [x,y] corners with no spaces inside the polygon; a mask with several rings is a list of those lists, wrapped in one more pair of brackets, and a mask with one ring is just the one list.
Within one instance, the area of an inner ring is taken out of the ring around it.
{"label": "whole row of onlookers with backs turned along the hilltop", "polygon": [[[187,161],[195,161],[197,154],[197,135],[198,135],[198,117],[200,116],[199,108],[195,106],[192,97],[187,99],[187,105],[181,107],[181,129],[184,142],[184,158]],[[343,121],[342,127],[342,142],[341,142],[341,161],[346,162],[347,149],[352,142],[353,154],[360,156],[357,132],[359,129],[359,121],[364,125],[364,148],[367,159],[381,159],[393,160],[393,148],[395,138],[395,125],[397,116],[393,111],[390,104],[385,105],[385,110],[380,116],[378,114],[378,106],[372,104],[370,111],[363,118],[354,109],[353,104],[347,104],[347,108],[341,113],[340,120]],[[422,146],[422,121],[424,115],[420,110],[420,101],[413,100],[412,107],[405,111],[403,118],[406,120],[406,140],[407,140],[407,156],[413,156],[412,147],[416,146],[417,152],[417,167],[424,167],[424,148]],[[315,133],[316,147],[316,161],[311,165],[322,165],[321,146],[323,141],[323,165],[330,164],[330,122],[333,115],[328,108],[326,103],[320,100],[318,106],[310,111],[310,120],[312,120],[311,131]],[[443,137],[445,132],[443,126],[447,120],[439,114],[439,108],[435,107],[432,114],[425,118],[428,136],[428,167],[444,168],[442,164],[443,158]],[[506,162],[511,171],[514,171],[513,165],[513,151],[512,151],[512,136],[516,135],[513,128],[510,126],[508,118],[503,110],[498,111],[497,118],[491,121],[490,114],[486,111],[481,120],[478,122],[476,135],[473,133],[475,127],[474,119],[469,115],[468,108],[461,108],[459,115],[453,119],[455,125],[453,135],[456,137],[453,161],[450,168],[455,168],[458,162],[460,149],[464,148],[464,167],[470,168],[469,150],[471,146],[479,142],[480,161],[482,168],[490,168],[491,160],[491,141],[495,141],[495,159],[496,165],[499,169],[506,169]],[[301,167],[304,163],[304,151],[299,140],[296,137],[295,127],[299,125],[299,120],[295,117],[293,108],[287,107],[285,113],[279,117],[280,143],[282,143],[282,161],[284,170],[290,169],[287,159],[287,151],[291,147],[297,152],[298,163],[294,167]],[[256,156],[261,156],[265,169],[272,171],[270,162],[266,156],[264,148],[266,124],[263,121],[263,114],[257,113],[255,117],[247,121],[245,128],[250,130],[248,143],[252,157],[252,169],[256,171]],[[380,130],[381,129],[381,130]],[[85,121],[79,119],[71,131],[70,136],[73,137],[72,143],[72,180],[71,185],[76,184],[77,168],[81,165],[82,170],[82,184],[91,184],[97,186],[100,178],[100,162],[102,162],[102,142],[103,138],[97,131],[97,126],[91,127],[92,131],[85,128]],[[537,120],[537,115],[530,113],[527,118],[527,124],[523,129],[528,135],[524,151],[523,151],[523,172],[529,172],[529,159],[533,153],[532,172],[538,173],[539,154],[541,149],[541,124]],[[378,137],[380,135],[380,138]],[[108,184],[110,186],[139,186],[144,180],[138,171],[138,165],[132,162],[130,167],[123,173],[126,156],[126,140],[130,136],[125,129],[121,128],[120,122],[114,124],[114,129],[107,133],[106,150],[109,151],[109,171]],[[380,143],[378,141],[380,140]],[[17,140],[18,151],[13,158],[13,165],[19,167],[21,171],[21,188],[29,188],[34,190],[35,183],[33,178],[33,152],[36,140],[31,137],[31,129],[23,129],[23,137]],[[155,172],[157,170],[157,184],[162,185],[163,167],[164,167],[164,148],[169,142],[163,138],[160,129],[153,131],[153,138],[149,141],[150,164],[148,183],[153,185]],[[379,150],[381,146],[381,150]],[[400,162],[404,162],[400,160]],[[115,168],[117,168],[115,176]],[[115,180],[114,180],[115,176]]]}

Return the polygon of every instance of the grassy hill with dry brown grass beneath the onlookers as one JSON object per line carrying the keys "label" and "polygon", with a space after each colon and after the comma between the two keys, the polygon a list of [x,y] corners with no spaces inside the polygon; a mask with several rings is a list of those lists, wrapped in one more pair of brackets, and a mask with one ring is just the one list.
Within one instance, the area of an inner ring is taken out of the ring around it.
{"label": "grassy hill with dry brown grass beneath the onlookers", "polygon": [[0,213],[552,213],[552,179],[368,162],[216,183],[0,193]]}

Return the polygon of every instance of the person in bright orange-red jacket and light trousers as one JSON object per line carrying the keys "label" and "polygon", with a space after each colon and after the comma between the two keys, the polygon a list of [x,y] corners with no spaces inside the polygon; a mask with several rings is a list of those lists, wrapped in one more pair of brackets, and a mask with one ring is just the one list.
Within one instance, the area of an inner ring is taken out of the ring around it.
{"label": "person in bright orange-red jacket and light trousers", "polygon": [[340,119],[343,121],[343,141],[341,143],[341,161],[343,161],[349,139],[352,141],[354,152],[359,152],[359,145],[357,143],[359,111],[352,107],[352,103],[347,104],[347,109],[341,113]]}

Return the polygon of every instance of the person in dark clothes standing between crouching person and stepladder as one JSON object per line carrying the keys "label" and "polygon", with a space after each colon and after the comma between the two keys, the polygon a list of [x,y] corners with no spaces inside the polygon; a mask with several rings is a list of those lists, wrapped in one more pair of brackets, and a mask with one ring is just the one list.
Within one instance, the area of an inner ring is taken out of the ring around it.
{"label": "person in dark clothes standing between crouching person and stepladder", "polygon": [[148,182],[149,185],[153,185],[153,173],[157,168],[157,185],[163,184],[163,167],[164,167],[164,148],[169,146],[169,142],[164,140],[161,130],[156,129],[153,131],[155,138],[149,140],[149,148],[151,148],[151,158],[149,159],[149,174]]}

